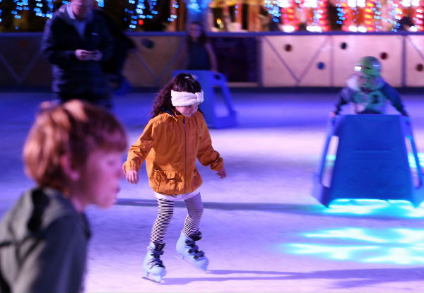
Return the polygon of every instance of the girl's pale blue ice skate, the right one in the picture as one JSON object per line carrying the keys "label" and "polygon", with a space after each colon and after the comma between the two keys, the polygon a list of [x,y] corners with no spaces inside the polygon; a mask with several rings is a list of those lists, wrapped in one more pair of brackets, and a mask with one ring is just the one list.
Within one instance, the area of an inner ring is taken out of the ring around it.
{"label": "girl's pale blue ice skate, the right one in the picture", "polygon": [[196,268],[206,270],[208,268],[209,260],[206,258],[203,251],[199,251],[196,241],[201,239],[201,232],[191,234],[189,237],[181,232],[177,241],[177,253],[182,259],[192,263]]}

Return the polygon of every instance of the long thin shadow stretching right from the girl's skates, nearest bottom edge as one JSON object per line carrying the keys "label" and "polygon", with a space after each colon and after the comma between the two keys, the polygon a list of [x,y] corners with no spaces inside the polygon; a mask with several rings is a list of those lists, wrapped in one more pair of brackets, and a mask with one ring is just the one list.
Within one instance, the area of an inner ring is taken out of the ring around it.
{"label": "long thin shadow stretching right from the girl's skates, nearest bottom edge", "polygon": [[[365,287],[384,282],[421,282],[424,268],[376,268],[358,270],[318,270],[307,273],[262,270],[209,270],[208,277],[165,278],[163,285],[187,285],[191,282],[230,280],[334,280],[333,288]],[[220,275],[220,276],[213,276]],[[418,288],[417,288],[418,289]]]}

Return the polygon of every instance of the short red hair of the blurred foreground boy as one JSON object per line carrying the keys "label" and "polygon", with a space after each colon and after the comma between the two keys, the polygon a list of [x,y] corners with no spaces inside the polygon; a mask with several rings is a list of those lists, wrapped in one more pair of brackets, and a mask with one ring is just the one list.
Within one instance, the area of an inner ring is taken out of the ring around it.
{"label": "short red hair of the blurred foreground boy", "polygon": [[23,147],[25,172],[40,186],[64,191],[61,157],[68,154],[83,167],[90,153],[98,149],[126,150],[124,128],[110,112],[80,100],[56,106],[47,103],[37,114]]}

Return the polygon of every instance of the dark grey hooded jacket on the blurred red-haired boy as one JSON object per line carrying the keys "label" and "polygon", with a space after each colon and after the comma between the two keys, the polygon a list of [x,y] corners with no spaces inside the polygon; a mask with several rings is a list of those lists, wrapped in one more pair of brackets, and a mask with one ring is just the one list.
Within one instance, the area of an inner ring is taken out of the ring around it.
{"label": "dark grey hooded jacket on the blurred red-haired boy", "polygon": [[79,292],[90,229],[54,189],[32,189],[0,222],[0,292]]}

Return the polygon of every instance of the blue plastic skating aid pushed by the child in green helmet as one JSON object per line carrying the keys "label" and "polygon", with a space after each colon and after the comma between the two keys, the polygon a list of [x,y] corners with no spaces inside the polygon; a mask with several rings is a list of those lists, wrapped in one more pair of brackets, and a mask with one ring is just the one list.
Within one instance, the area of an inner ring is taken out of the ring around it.
{"label": "blue plastic skating aid pushed by the child in green helmet", "polygon": [[[331,183],[323,184],[331,137],[338,137]],[[406,139],[416,163],[416,184],[408,163]],[[329,123],[312,194],[329,206],[338,198],[410,201],[424,200],[423,171],[410,121],[401,115],[341,115]]]}

